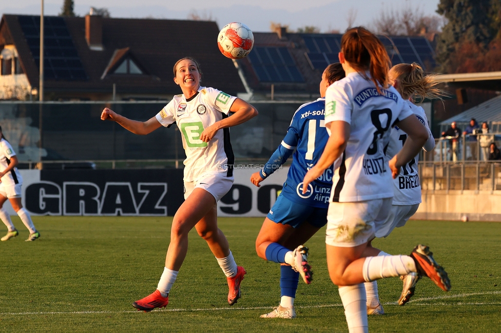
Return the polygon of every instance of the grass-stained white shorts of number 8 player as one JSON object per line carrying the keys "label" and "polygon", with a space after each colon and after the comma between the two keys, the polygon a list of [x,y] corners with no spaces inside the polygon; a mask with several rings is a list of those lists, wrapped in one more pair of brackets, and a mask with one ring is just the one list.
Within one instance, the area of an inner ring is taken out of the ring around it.
{"label": "grass-stained white shorts of number 8 player", "polygon": [[374,238],[376,221],[387,219],[392,201],[393,198],[384,198],[329,203],[325,243],[338,247],[367,243]]}

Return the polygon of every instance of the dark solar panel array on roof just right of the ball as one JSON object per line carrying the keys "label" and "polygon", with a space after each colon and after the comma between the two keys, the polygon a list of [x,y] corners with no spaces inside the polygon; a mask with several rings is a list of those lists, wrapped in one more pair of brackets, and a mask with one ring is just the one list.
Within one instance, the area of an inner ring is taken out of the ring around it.
{"label": "dark solar panel array on roof just right of the ball", "polygon": [[256,47],[249,60],[261,82],[304,82],[287,48]]}

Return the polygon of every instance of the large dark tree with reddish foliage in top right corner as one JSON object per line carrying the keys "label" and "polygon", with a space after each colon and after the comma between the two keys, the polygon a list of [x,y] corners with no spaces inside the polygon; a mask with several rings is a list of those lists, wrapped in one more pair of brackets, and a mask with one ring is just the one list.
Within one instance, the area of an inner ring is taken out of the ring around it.
{"label": "large dark tree with reddish foliage in top right corner", "polygon": [[[463,60],[468,54],[484,57],[489,52],[491,41],[499,34],[500,11],[501,0],[440,0],[437,13],[448,23],[437,40],[439,70],[456,73],[455,56]],[[470,65],[476,61],[471,60],[468,61]]]}

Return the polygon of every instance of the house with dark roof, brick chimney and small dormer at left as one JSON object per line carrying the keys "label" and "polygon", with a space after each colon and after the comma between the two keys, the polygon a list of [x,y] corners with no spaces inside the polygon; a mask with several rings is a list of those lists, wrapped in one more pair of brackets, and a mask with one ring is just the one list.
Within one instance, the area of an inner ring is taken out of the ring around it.
{"label": "house with dark roof, brick chimney and small dormer at left", "polygon": [[[181,90],[172,67],[199,60],[202,84],[245,92],[233,61],[219,52],[215,22],[46,16],[46,100],[170,99]],[[0,22],[0,99],[26,99],[38,88],[40,17],[4,15]],[[35,96],[36,97],[36,96]]]}

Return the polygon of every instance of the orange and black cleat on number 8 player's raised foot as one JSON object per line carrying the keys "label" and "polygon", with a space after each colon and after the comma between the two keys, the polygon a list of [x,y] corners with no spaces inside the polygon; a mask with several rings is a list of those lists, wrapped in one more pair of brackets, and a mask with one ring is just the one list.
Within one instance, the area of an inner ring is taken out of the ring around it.
{"label": "orange and black cleat on number 8 player's raised foot", "polygon": [[417,273],[421,276],[429,277],[437,286],[445,292],[451,290],[451,281],[447,276],[444,267],[436,263],[433,253],[425,245],[417,245],[411,253],[411,257],[416,263]]}

